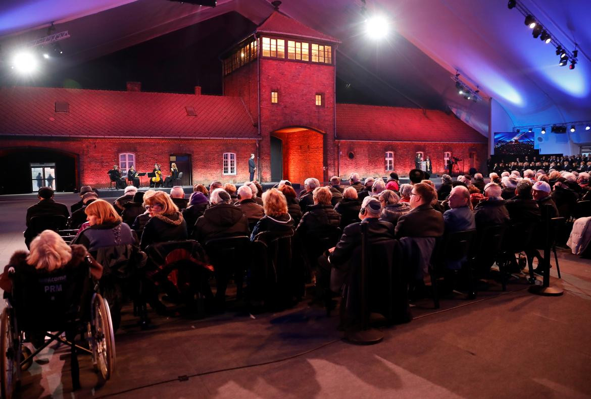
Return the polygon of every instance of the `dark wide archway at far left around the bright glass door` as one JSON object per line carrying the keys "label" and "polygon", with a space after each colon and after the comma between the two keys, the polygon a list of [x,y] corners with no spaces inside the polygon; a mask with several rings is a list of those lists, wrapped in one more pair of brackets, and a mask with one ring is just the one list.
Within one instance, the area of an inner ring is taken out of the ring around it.
{"label": "dark wide archway at far left around the bright glass door", "polygon": [[[78,156],[46,148],[7,148],[0,152],[5,178],[0,180],[0,194],[24,194],[35,191],[31,165],[54,165],[56,191],[73,192],[78,187]],[[35,169],[36,171],[36,169]]]}

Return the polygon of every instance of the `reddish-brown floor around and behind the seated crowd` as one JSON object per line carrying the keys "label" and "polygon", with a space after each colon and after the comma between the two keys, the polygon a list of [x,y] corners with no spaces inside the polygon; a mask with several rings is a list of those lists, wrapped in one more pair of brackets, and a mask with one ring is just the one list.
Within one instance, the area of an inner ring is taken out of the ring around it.
{"label": "reddish-brown floor around and behind the seated crowd", "polygon": [[[56,197],[67,205],[77,200]],[[34,202],[34,195],[0,197],[2,264],[24,248],[24,212]],[[68,352],[54,347],[24,373],[21,397],[588,398],[591,261],[558,256],[563,278],[554,267],[551,283],[563,296],[531,295],[519,275],[505,293],[492,284],[473,301],[446,297],[438,311],[421,300],[411,323],[384,328],[374,346],[342,341],[337,316],[305,302],[255,316],[152,315],[149,331],[125,308],[117,371],[103,387],[80,355],[82,390],[72,393]]]}

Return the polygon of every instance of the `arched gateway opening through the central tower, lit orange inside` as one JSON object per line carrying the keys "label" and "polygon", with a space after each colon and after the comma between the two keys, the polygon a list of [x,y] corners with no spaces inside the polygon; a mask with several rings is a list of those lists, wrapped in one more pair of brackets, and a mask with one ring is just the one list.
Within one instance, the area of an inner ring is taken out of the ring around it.
{"label": "arched gateway opening through the central tower, lit orange inside", "polygon": [[[278,142],[281,144],[280,152]],[[322,182],[324,179],[323,156],[324,135],[318,130],[304,126],[291,126],[271,133],[272,181],[280,180],[274,178],[273,165],[281,162],[283,179],[304,184],[306,178],[314,177]]]}

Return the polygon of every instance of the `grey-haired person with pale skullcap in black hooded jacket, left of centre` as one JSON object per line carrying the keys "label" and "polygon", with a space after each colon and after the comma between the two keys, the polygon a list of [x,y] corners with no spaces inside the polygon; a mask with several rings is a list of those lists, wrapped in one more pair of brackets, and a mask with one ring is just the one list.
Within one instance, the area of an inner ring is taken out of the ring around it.
{"label": "grey-haired person with pale skullcap in black hooded jacket, left of centre", "polygon": [[210,206],[197,219],[193,237],[202,245],[211,238],[248,236],[248,219],[242,210],[230,204],[230,194],[216,188],[209,197]]}

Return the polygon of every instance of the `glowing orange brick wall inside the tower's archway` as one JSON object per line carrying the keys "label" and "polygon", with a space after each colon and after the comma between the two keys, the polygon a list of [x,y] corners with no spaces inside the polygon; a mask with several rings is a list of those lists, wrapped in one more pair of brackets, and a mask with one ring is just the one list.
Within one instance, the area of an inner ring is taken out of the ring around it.
{"label": "glowing orange brick wall inside the tower's archway", "polygon": [[[282,140],[283,178],[303,184],[314,177],[323,179],[323,135],[314,130],[273,133]],[[302,161],[305,160],[305,161]]]}

